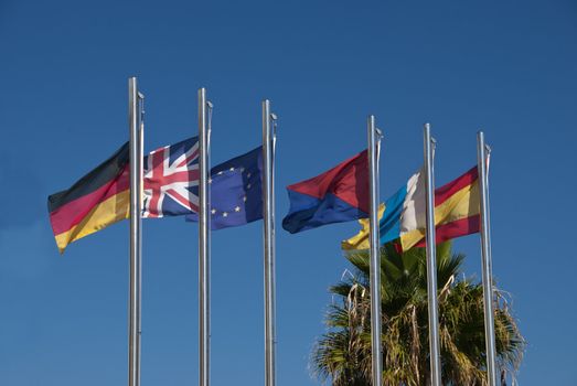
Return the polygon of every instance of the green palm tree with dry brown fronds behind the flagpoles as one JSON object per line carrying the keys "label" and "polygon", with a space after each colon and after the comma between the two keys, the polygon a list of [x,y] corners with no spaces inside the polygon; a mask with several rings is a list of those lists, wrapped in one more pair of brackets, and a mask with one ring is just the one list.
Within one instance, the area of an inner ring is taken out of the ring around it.
{"label": "green palm tree with dry brown fronds behind the flagpoles", "polygon": [[[313,373],[333,386],[368,386],[371,382],[371,307],[368,256],[349,254],[355,272],[331,287],[338,297],[325,317],[329,331],[314,345]],[[483,289],[462,276],[464,256],[450,243],[437,247],[439,330],[445,385],[485,385]],[[382,250],[382,325],[384,385],[428,385],[429,344],[426,255],[413,248],[400,255]],[[498,368],[504,384],[514,377],[525,341],[504,292],[495,290]]]}

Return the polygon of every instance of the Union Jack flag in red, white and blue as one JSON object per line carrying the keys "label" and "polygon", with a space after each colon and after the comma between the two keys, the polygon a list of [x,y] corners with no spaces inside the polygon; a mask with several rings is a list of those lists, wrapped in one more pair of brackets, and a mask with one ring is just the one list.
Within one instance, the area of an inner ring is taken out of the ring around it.
{"label": "Union Jack flag in red, white and blue", "polygon": [[199,139],[185,139],[145,157],[142,217],[199,212]]}

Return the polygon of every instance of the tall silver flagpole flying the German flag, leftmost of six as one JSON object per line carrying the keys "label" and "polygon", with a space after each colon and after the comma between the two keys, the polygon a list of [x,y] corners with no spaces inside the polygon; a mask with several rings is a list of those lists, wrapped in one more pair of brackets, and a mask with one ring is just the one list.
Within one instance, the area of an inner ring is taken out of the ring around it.
{"label": "tall silver flagpole flying the German flag, leftmost of six", "polygon": [[137,78],[128,79],[128,127],[130,164],[130,274],[128,303],[128,385],[140,386],[140,304],[141,304],[141,132]]}

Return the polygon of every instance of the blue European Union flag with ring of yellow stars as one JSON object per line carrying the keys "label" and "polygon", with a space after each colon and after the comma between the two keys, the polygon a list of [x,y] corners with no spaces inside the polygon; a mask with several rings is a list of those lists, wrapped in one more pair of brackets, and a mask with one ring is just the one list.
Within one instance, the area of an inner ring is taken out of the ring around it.
{"label": "blue European Union flag with ring of yellow stars", "polygon": [[[263,218],[263,147],[211,169],[211,228],[239,226]],[[194,186],[197,194],[199,186]],[[197,222],[196,213],[186,216]]]}

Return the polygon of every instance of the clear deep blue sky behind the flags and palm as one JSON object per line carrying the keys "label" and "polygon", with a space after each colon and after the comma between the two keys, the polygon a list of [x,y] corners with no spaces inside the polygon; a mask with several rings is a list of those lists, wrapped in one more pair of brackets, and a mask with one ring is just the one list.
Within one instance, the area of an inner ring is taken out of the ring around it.
{"label": "clear deep blue sky behind the flags and palm", "polygon": [[[575,385],[577,183],[575,1],[0,1],[0,384],[126,383],[128,222],[58,256],[46,196],[127,140],[127,78],[147,97],[146,149],[195,135],[196,89],[214,103],[216,164],[279,116],[278,385],[308,369],[328,287],[350,268],[354,223],[280,229],[284,186],[385,132],[382,199],[423,162],[436,179],[493,148],[493,269],[528,345],[521,385]],[[197,380],[196,225],[146,221],[142,385]],[[480,278],[479,239],[455,243]],[[261,223],[213,234],[213,385],[263,384]]]}

